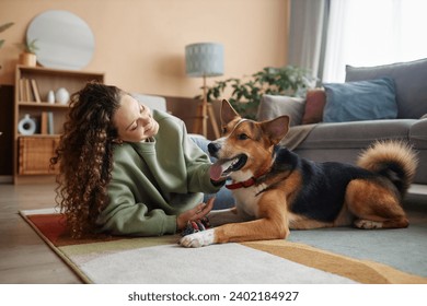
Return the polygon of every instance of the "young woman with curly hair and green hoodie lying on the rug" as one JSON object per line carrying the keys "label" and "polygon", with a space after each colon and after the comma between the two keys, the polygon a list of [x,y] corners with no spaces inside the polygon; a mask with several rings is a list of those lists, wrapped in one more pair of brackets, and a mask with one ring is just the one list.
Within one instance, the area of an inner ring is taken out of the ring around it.
{"label": "young woman with curly hair and green hoodie lying on the rug", "polygon": [[73,237],[174,234],[203,219],[214,205],[204,193],[223,186],[182,120],[116,86],[88,83],[73,94],[64,127],[51,165]]}

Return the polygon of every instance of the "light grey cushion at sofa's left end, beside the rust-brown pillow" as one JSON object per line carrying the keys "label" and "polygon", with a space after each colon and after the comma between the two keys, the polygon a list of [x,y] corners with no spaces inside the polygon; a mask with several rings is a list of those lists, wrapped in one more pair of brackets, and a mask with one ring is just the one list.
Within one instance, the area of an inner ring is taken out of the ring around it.
{"label": "light grey cushion at sofa's left end, beside the rust-brown pillow", "polygon": [[256,118],[259,121],[270,120],[281,115],[290,117],[290,126],[300,125],[304,113],[305,101],[300,97],[263,95]]}

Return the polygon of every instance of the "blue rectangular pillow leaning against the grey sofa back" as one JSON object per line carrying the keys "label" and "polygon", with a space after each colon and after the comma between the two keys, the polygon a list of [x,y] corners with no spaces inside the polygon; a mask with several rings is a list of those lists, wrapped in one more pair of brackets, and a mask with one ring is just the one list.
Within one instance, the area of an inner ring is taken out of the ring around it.
{"label": "blue rectangular pillow leaning against the grey sofa back", "polygon": [[323,86],[326,92],[324,122],[397,118],[394,81],[390,78]]}

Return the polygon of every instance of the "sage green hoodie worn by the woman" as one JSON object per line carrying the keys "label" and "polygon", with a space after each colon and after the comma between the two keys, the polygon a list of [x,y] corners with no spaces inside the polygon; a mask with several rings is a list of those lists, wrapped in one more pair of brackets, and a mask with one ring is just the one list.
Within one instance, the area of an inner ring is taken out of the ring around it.
{"label": "sage green hoodie worn by the woman", "polygon": [[157,236],[176,232],[176,215],[215,193],[209,157],[188,138],[182,120],[153,110],[159,132],[151,142],[114,149],[109,203],[97,219],[101,232]]}

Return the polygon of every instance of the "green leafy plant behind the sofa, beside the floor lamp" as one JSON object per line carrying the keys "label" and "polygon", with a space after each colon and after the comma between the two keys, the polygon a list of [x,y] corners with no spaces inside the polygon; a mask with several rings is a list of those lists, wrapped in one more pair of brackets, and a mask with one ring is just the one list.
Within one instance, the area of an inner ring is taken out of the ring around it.
{"label": "green leafy plant behind the sofa, beside the floor lamp", "polygon": [[256,113],[264,94],[303,96],[308,87],[313,84],[314,78],[309,71],[286,66],[281,68],[266,67],[262,71],[244,79],[231,78],[217,81],[208,87],[207,98],[220,98],[224,92],[231,90],[227,97],[233,108],[250,119],[256,119]]}

